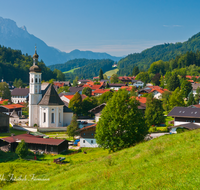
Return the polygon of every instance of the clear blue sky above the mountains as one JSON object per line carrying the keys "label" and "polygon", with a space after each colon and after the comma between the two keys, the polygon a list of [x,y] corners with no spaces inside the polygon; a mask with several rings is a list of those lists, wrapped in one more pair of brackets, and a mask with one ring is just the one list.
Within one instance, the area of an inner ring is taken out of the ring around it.
{"label": "clear blue sky above the mountains", "polygon": [[200,32],[198,0],[0,0],[0,16],[61,51],[115,56]]}

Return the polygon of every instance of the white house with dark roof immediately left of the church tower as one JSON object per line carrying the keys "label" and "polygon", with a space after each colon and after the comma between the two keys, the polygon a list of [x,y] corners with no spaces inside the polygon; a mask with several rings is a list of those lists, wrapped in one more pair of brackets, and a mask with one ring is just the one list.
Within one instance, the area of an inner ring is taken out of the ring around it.
{"label": "white house with dark roof immediately left of the church tower", "polygon": [[12,103],[20,103],[20,102],[28,102],[29,98],[29,88],[15,88],[11,92],[11,102]]}

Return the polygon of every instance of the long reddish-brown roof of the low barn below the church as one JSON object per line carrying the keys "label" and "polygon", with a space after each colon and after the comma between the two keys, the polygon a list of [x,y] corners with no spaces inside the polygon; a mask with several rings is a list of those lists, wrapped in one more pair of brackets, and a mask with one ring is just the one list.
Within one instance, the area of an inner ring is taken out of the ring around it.
{"label": "long reddish-brown roof of the low barn below the church", "polygon": [[22,134],[22,135],[17,135],[17,136],[12,136],[12,137],[5,137],[5,138],[1,138],[2,140],[9,142],[9,143],[13,143],[13,142],[17,142],[20,140],[24,140],[26,143],[30,143],[30,144],[47,144],[47,145],[59,145],[62,142],[64,142],[65,140],[62,139],[44,139],[44,138],[39,138],[39,137],[35,137],[33,135],[29,135],[29,134]]}

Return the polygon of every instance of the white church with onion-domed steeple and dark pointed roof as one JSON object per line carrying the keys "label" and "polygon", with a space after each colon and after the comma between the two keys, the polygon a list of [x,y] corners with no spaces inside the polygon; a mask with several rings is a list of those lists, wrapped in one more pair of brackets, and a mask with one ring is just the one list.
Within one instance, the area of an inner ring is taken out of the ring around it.
{"label": "white church with onion-domed steeple and dark pointed roof", "polygon": [[29,72],[29,126],[66,127],[72,120],[73,112],[64,106],[52,84],[41,90],[42,73],[37,65],[38,57],[35,49]]}

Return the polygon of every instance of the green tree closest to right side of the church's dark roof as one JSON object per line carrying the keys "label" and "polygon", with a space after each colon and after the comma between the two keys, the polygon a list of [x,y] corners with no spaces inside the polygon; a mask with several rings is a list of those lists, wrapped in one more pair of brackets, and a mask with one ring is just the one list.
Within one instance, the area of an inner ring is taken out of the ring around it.
{"label": "green tree closest to right side of the church's dark roof", "polygon": [[81,112],[82,112],[82,97],[78,92],[76,92],[76,94],[70,100],[69,108],[72,109],[75,114],[77,114],[77,115],[81,114]]}

